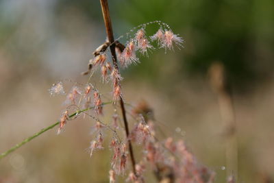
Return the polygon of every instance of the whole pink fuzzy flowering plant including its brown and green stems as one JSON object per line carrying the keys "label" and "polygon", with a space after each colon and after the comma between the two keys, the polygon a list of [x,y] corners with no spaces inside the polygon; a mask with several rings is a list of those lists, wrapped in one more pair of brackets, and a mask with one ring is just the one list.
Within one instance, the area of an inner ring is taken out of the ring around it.
{"label": "whole pink fuzzy flowering plant including its brown and green stems", "polygon": [[[1,154],[0,158],[57,125],[57,133],[60,134],[69,121],[84,115],[94,121],[91,130],[94,138],[90,141],[88,148],[90,157],[98,150],[110,149],[112,151],[110,183],[116,182],[118,175],[125,176],[125,180],[129,182],[145,182],[144,173],[149,170],[155,174],[158,182],[214,182],[214,171],[199,164],[183,140],[174,141],[171,137],[158,139],[156,132],[159,127],[149,115],[152,110],[147,103],[142,102],[138,106],[130,106],[125,103],[123,97],[121,69],[138,64],[141,60],[138,55],[148,56],[157,48],[163,48],[164,51],[173,50],[174,47],[180,48],[184,42],[183,39],[174,34],[169,25],[162,21],[139,25],[129,33],[114,39],[108,1],[101,0],[101,8],[108,37],[93,52],[94,57],[88,63],[88,71],[82,73],[89,75],[88,82],[82,86],[73,86],[68,93],[65,92],[62,82],[53,84],[49,89],[50,95],[66,95],[64,102],[66,109],[61,113],[60,120],[12,147]],[[158,30],[153,35],[147,35],[147,26],[156,26]],[[121,38],[127,38],[125,45],[119,42]],[[90,83],[90,78],[97,70],[101,74],[101,82],[112,85],[111,96],[103,95],[99,88]],[[103,101],[103,98],[111,99]],[[113,106],[111,123],[100,119],[104,106],[108,104]],[[127,110],[126,105],[132,110]],[[133,121],[127,119],[128,115]],[[112,134],[110,142],[105,142],[106,133]],[[138,151],[142,154],[138,160],[134,156],[134,146],[138,146]]]}

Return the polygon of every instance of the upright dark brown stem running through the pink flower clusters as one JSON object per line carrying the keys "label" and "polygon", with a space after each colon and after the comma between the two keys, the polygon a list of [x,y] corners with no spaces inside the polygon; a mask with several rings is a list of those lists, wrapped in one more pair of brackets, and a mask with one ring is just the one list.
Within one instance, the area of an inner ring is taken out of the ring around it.
{"label": "upright dark brown stem running through the pink flower clusters", "polygon": [[[102,12],[103,12],[103,21],[105,22],[105,30],[108,35],[108,41],[111,44],[110,51],[112,53],[112,61],[113,61],[114,67],[117,70],[119,70],[119,66],[116,61],[115,44],[112,44],[114,42],[114,36],[113,36],[113,32],[112,32],[112,23],[110,20],[110,10],[108,9],[108,0],[100,0],[100,3],[101,3]],[[127,141],[128,141],[128,145],[129,145],[129,156],[132,160],[132,170],[133,170],[134,174],[136,174],[134,153],[133,153],[133,149],[132,149],[132,143],[129,139],[129,127],[128,127],[128,123],[127,123],[127,116],[125,114],[125,103],[121,96],[120,96],[120,105],[121,105],[121,110],[122,110],[122,114],[123,114],[123,121],[125,124],[125,134],[127,135]]]}

